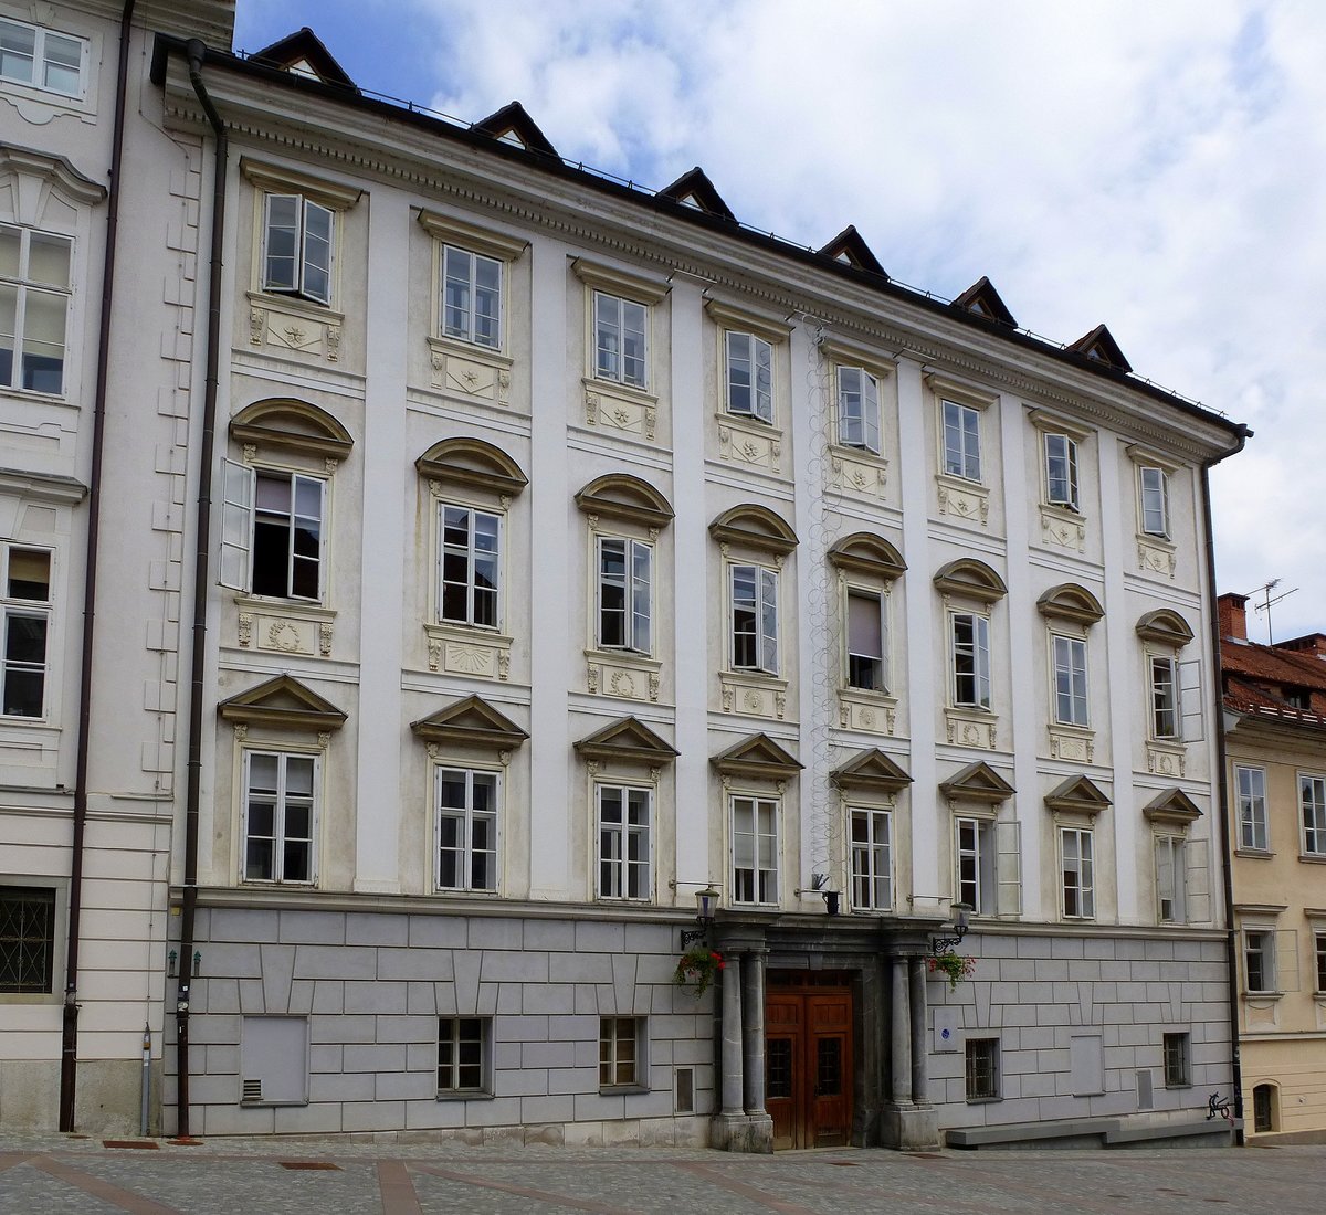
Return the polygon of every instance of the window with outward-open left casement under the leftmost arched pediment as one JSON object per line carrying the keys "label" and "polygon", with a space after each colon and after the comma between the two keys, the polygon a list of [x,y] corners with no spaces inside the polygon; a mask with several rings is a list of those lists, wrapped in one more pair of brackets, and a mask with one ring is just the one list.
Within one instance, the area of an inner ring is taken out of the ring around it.
{"label": "window with outward-open left casement under the leftmost arched pediment", "polygon": [[221,586],[321,603],[326,488],[322,477],[227,460]]}

